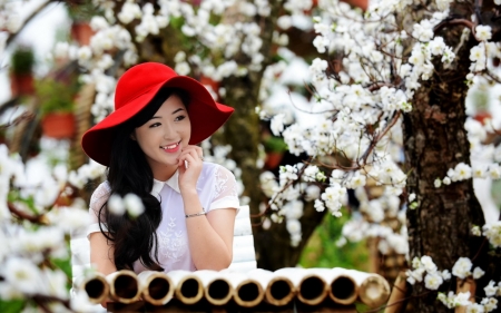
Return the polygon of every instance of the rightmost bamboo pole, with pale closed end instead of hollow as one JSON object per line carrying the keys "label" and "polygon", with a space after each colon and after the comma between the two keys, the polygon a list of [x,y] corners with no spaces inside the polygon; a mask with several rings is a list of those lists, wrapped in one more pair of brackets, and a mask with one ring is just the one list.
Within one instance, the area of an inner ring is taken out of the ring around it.
{"label": "rightmost bamboo pole, with pale closed end instead of hollow", "polygon": [[375,273],[365,273],[356,270],[346,270],[358,286],[358,299],[370,307],[377,307],[386,303],[390,296],[390,284]]}

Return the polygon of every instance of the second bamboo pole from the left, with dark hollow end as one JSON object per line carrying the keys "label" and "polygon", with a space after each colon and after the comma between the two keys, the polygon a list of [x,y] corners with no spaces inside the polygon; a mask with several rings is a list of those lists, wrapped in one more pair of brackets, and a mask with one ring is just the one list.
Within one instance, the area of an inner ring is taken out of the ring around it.
{"label": "second bamboo pole from the left, with dark hollow end", "polygon": [[140,299],[139,282],[132,271],[114,272],[106,276],[106,281],[109,284],[109,294],[114,301],[127,304]]}

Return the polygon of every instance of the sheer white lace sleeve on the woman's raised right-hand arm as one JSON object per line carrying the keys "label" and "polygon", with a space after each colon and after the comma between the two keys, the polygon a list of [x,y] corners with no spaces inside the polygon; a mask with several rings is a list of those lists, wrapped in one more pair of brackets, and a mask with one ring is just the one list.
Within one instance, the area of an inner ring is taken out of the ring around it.
{"label": "sheer white lace sleeve on the woman's raised right-hand arm", "polygon": [[238,208],[237,182],[233,173],[223,166],[218,166],[215,172],[214,184],[214,198],[208,211],[227,207]]}

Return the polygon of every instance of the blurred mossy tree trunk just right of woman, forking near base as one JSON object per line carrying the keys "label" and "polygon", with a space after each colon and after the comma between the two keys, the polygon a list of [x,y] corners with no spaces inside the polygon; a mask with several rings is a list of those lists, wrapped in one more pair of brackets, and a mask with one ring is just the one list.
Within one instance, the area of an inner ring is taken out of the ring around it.
{"label": "blurred mossy tree trunk just right of woman, forking near base", "polygon": [[273,223],[271,228],[261,227],[259,204],[267,202],[259,186],[261,168],[257,168],[257,146],[261,143],[259,117],[255,113],[258,104],[258,94],[264,69],[272,62],[272,38],[275,30],[276,19],[282,10],[284,1],[271,1],[272,13],[259,21],[263,39],[262,53],[265,57],[263,70],[249,72],[245,77],[230,77],[223,81],[227,95],[224,104],[235,107],[235,113],[225,125],[224,139],[232,148],[230,158],[242,169],[242,179],[245,186],[244,195],[250,200],[250,214],[254,233],[254,246],[256,250],[257,266],[266,270],[277,270],[286,266],[296,266],[301,252],[313,231],[321,223],[323,214],[317,213],[313,205],[306,204],[304,216],[301,218],[303,241],[297,247],[291,246],[285,222]]}

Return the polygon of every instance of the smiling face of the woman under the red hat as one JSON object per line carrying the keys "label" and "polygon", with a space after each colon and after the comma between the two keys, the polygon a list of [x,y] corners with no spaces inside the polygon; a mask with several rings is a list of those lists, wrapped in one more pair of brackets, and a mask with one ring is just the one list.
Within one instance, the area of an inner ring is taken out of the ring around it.
{"label": "smiling face of the woman under the red hat", "polygon": [[171,95],[132,138],[145,153],[154,177],[167,180],[177,169],[177,158],[188,146],[191,124],[188,111],[177,95]]}

